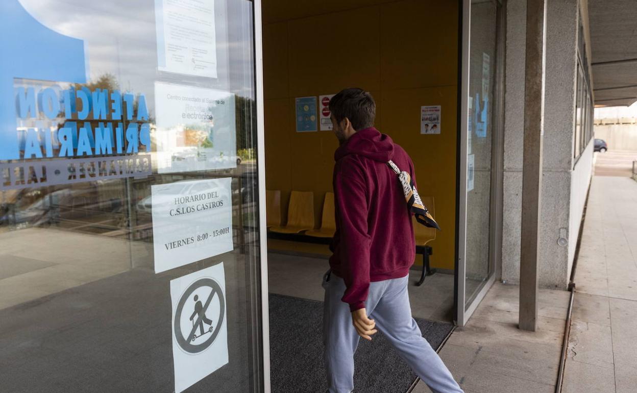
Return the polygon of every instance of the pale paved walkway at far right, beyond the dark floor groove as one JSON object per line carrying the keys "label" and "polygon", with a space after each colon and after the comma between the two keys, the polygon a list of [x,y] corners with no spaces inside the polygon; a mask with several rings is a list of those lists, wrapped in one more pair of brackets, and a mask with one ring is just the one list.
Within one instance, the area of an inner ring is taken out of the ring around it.
{"label": "pale paved walkway at far right, beyond the dark floor groove", "polygon": [[637,182],[595,176],[575,273],[563,392],[637,390]]}

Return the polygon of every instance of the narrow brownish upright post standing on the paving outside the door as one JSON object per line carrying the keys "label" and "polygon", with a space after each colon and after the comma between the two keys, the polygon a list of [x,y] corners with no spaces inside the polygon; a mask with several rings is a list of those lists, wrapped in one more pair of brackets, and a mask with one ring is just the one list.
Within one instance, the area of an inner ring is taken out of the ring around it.
{"label": "narrow brownish upright post standing on the paving outside the door", "polygon": [[546,0],[527,0],[524,78],[524,166],[520,239],[520,329],[538,324],[538,246],[542,183]]}

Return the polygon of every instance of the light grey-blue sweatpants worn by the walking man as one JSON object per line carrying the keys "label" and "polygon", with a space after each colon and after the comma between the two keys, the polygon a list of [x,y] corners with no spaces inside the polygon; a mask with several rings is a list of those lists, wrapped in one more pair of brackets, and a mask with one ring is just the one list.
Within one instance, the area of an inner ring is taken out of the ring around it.
{"label": "light grey-blue sweatpants worn by the walking man", "polygon": [[[326,281],[326,276],[323,278],[326,290],[323,343],[327,389],[329,393],[350,393],[354,389],[354,352],[359,335],[352,324],[349,305],[341,301],[345,282],[334,274],[329,275]],[[366,301],[368,318],[376,321],[376,329],[389,339],[404,361],[434,393],[462,392],[412,318],[408,280],[407,275],[370,283]]]}

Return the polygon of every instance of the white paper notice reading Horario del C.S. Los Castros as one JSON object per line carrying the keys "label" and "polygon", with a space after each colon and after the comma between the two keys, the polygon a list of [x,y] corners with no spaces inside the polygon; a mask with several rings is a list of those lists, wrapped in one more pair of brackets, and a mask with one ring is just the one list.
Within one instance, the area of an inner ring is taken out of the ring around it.
{"label": "white paper notice reading Horario del C.S. Los Castros", "polygon": [[150,186],[155,273],[233,250],[231,180]]}

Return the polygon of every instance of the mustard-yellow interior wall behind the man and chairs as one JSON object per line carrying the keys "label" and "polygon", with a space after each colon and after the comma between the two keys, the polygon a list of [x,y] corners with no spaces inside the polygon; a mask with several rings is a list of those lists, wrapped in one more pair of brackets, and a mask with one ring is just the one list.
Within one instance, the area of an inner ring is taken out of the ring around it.
{"label": "mustard-yellow interior wall behind the man and chairs", "polygon": [[[295,97],[368,90],[376,127],[403,146],[443,231],[432,266],[454,269],[458,4],[445,0],[263,2],[266,188],[313,191],[316,226],[332,190],[330,131],[296,132]],[[420,106],[441,105],[441,134],[420,134]]]}

